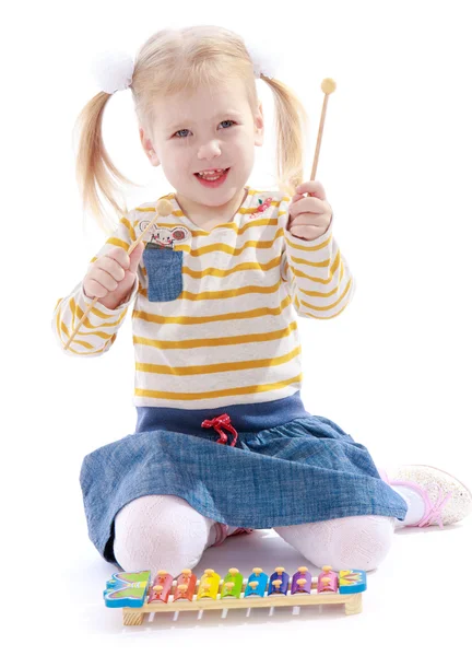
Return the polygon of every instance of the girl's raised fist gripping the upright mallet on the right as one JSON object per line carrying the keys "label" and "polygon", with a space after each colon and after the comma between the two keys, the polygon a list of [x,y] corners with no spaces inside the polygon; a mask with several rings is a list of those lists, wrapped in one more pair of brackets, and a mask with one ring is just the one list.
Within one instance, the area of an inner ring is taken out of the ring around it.
{"label": "girl's raised fist gripping the upright mallet on the right", "polygon": [[327,202],[323,186],[317,180],[308,180],[299,185],[296,191],[288,206],[287,230],[295,237],[316,239],[327,232],[332,218],[332,208]]}

